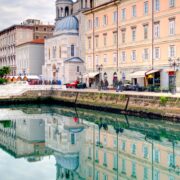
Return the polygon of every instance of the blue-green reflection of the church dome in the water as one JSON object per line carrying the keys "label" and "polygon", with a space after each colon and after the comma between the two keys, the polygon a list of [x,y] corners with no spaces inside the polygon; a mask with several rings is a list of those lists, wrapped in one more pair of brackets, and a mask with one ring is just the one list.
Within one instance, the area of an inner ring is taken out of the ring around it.
{"label": "blue-green reflection of the church dome in the water", "polygon": [[79,167],[79,154],[55,154],[56,163],[62,168],[75,171]]}

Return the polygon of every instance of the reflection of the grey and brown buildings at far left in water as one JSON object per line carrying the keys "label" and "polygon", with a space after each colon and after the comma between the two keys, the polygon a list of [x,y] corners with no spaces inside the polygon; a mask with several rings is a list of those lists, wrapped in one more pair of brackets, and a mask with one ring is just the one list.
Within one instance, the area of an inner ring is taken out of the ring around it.
{"label": "reflection of the grey and brown buildings at far left in water", "polygon": [[45,123],[38,117],[18,114],[11,120],[1,117],[0,148],[16,158],[26,157],[30,162],[41,160],[49,154],[45,149]]}

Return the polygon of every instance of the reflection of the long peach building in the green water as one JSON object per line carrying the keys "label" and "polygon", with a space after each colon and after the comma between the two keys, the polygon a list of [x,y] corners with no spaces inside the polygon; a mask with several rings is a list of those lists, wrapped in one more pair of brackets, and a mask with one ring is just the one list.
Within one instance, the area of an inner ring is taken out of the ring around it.
{"label": "reflection of the long peach building in the green water", "polygon": [[94,139],[92,127],[86,134],[87,179],[179,178],[179,144],[173,150],[173,143],[167,139],[155,141],[129,130],[117,135],[111,127],[101,130],[100,137],[98,128],[95,128]]}

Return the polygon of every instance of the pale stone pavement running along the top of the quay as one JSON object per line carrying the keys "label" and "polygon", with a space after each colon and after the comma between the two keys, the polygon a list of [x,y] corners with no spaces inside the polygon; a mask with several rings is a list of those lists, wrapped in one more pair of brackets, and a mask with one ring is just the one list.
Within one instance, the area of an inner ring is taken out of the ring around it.
{"label": "pale stone pavement running along the top of the quay", "polygon": [[136,91],[123,91],[116,92],[115,90],[102,90],[97,89],[66,89],[59,85],[27,85],[27,84],[8,84],[0,85],[0,98],[8,98],[10,96],[18,96],[28,90],[58,90],[58,91],[72,91],[72,92],[96,92],[96,93],[114,93],[124,95],[140,95],[140,96],[166,96],[180,98],[180,93],[156,93],[156,92],[136,92]]}

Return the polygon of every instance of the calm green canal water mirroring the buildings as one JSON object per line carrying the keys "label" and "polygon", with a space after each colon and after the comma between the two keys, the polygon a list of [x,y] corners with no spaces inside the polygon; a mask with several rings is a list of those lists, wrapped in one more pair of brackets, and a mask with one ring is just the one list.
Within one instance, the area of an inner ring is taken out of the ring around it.
{"label": "calm green canal water mirroring the buildings", "polygon": [[180,124],[55,106],[0,108],[0,180],[180,180]]}

